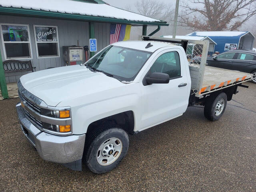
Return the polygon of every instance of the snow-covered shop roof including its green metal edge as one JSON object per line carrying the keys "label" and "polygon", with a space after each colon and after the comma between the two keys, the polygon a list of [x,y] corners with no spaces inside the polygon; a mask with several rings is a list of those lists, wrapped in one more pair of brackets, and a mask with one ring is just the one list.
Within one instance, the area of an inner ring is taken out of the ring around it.
{"label": "snow-covered shop roof including its green metal edge", "polygon": [[169,25],[167,22],[161,20],[110,6],[103,1],[94,1],[98,3],[89,3],[88,1],[85,2],[82,0],[1,0],[0,14],[66,18],[120,24]]}

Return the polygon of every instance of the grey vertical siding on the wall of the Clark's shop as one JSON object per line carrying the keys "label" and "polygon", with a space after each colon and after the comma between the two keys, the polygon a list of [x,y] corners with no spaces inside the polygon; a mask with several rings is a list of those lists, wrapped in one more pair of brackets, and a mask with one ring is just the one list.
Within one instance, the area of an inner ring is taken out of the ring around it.
{"label": "grey vertical siding on the wall of the Clark's shop", "polygon": [[[30,30],[30,41],[32,47],[31,59],[32,66],[36,67],[36,71],[44,70],[49,67],[65,66],[64,57],[62,54],[62,46],[89,46],[89,24],[85,21],[73,21],[73,20],[59,20],[49,18],[32,18],[21,16],[0,15],[0,23],[9,24],[28,24]],[[37,58],[36,43],[34,38],[34,26],[33,25],[49,25],[58,26],[58,37],[60,44],[60,57],[58,58]],[[109,23],[95,23],[95,38],[97,39],[97,50],[101,50],[110,43],[110,24]],[[3,61],[4,50],[2,39],[0,39],[0,50]],[[20,59],[21,60],[21,59]],[[28,59],[22,59],[28,60]],[[85,60],[85,56],[84,56]],[[13,76],[6,77],[6,82],[17,82],[19,78],[27,72],[17,73],[14,72]]]}

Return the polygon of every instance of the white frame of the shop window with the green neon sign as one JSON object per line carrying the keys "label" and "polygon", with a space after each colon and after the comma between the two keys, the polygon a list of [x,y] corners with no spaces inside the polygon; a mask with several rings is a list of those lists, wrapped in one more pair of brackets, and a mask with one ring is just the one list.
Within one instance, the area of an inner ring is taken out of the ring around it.
{"label": "white frame of the shop window with the green neon sign", "polygon": [[[28,27],[28,40],[29,41],[4,41],[4,36],[2,33],[2,25],[14,25],[14,26],[27,26]],[[4,50],[4,59],[5,60],[28,60],[28,59],[33,59],[33,52],[32,52],[32,46],[31,46],[31,37],[30,37],[30,29],[29,29],[29,24],[13,24],[13,23],[0,23],[0,34],[1,34],[1,40],[2,40],[2,46],[3,46],[3,50]],[[12,57],[12,58],[7,58],[7,53],[6,53],[6,49],[4,44],[5,43],[29,43],[29,52],[30,52],[30,57]]]}

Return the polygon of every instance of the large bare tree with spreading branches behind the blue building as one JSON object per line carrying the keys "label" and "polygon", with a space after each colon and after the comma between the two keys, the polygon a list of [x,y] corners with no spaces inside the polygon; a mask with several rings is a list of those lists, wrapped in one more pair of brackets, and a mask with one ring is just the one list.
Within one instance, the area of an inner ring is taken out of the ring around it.
{"label": "large bare tree with spreading branches behind the blue building", "polygon": [[238,30],[256,14],[256,0],[186,0],[179,23],[191,30]]}

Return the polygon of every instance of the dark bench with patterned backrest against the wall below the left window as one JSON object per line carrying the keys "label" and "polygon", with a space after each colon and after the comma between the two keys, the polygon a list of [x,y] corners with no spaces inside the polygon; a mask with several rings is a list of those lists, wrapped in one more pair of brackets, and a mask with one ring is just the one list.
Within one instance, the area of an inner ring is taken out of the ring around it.
{"label": "dark bench with patterned backrest against the wall below the left window", "polygon": [[32,67],[31,61],[19,61],[19,60],[6,60],[3,62],[5,76],[12,72],[23,72],[23,71],[36,71],[36,67]]}

